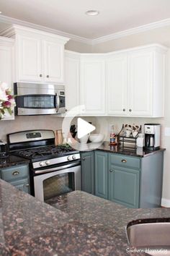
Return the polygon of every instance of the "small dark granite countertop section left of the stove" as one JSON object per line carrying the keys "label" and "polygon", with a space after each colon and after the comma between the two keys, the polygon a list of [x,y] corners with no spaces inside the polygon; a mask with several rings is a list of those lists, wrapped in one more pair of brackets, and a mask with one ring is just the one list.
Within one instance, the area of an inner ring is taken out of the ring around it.
{"label": "small dark granite countertop section left of the stove", "polygon": [[30,163],[30,161],[25,158],[20,158],[19,156],[10,154],[6,158],[0,158],[0,168],[17,166],[18,164],[23,163]]}

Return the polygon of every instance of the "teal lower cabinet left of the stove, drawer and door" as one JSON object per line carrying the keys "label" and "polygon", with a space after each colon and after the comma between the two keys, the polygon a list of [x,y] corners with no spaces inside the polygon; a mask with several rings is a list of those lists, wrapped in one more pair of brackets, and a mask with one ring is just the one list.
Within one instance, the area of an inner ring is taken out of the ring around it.
{"label": "teal lower cabinet left of the stove, drawer and door", "polygon": [[9,182],[17,189],[30,194],[30,174],[28,164],[1,168],[0,171],[1,179]]}

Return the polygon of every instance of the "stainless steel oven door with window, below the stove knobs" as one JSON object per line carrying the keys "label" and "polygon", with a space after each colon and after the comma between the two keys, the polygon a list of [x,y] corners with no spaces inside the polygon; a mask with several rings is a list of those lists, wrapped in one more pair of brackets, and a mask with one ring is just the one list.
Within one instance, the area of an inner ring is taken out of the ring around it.
{"label": "stainless steel oven door with window, below the stove knobs", "polygon": [[[35,197],[45,201],[74,190],[81,190],[81,165],[75,163],[43,169],[34,176]],[[48,172],[48,173],[47,173]]]}

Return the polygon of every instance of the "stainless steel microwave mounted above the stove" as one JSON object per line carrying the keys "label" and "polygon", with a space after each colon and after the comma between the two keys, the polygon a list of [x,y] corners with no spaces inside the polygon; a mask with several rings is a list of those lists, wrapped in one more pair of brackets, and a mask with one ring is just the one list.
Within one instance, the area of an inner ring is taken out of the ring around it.
{"label": "stainless steel microwave mounted above the stove", "polygon": [[66,111],[64,85],[14,83],[17,116],[63,114]]}

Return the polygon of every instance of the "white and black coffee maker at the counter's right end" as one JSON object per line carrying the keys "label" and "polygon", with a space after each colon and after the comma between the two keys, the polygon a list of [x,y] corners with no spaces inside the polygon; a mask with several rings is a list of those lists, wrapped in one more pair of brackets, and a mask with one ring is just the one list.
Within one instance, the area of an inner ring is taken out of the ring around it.
{"label": "white and black coffee maker at the counter's right end", "polygon": [[161,124],[144,124],[146,150],[160,148]]}

